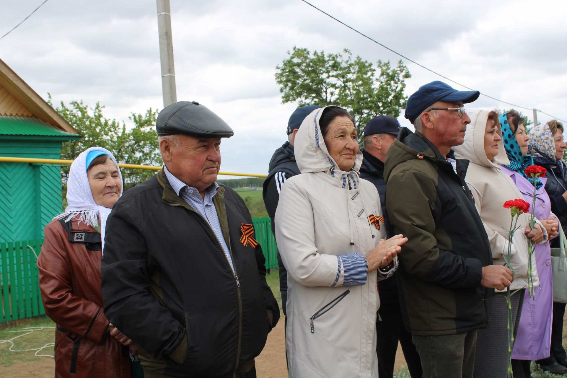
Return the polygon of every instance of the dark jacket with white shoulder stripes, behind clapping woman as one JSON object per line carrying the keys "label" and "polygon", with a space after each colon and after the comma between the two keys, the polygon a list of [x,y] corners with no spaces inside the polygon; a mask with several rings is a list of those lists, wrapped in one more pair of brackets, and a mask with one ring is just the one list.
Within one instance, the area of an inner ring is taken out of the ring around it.
{"label": "dark jacket with white shoulder stripes, behind clapping woman", "polygon": [[[276,177],[278,172],[281,172],[285,177]],[[274,216],[276,216],[276,209],[278,207],[278,202],[280,201],[280,190],[283,182],[282,180],[287,180],[290,177],[299,175],[299,168],[295,162],[295,155],[293,146],[290,142],[285,142],[280,148],[274,151],[270,164],[268,166],[268,177],[264,181],[262,197],[264,198],[264,205],[266,205],[266,211],[272,220],[272,233],[276,235],[276,222],[274,222]],[[279,182],[278,182],[279,180]],[[286,301],[287,301],[287,270],[285,269],[284,262],[280,256],[280,251],[277,251],[278,267],[280,268],[280,293],[282,295],[282,310],[284,315],[286,313]]]}

